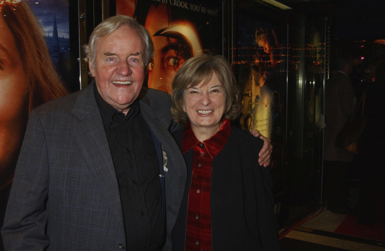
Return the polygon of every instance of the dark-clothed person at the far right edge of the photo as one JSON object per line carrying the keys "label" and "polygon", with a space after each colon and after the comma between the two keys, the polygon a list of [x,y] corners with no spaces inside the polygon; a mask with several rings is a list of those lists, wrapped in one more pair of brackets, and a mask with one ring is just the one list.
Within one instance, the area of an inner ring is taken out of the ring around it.
{"label": "dark-clothed person at the far right edge of the photo", "polygon": [[378,202],[385,204],[385,156],[380,147],[385,140],[385,63],[377,65],[375,79],[365,94],[363,116],[366,124],[358,143],[361,187],[357,222],[365,225],[374,224],[377,218],[385,224],[385,212],[378,210],[381,208]]}

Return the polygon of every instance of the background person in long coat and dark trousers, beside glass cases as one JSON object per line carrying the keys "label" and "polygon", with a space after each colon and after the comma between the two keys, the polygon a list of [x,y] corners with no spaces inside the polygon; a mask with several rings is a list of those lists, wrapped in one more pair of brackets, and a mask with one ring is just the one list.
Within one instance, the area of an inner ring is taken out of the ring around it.
{"label": "background person in long coat and dark trousers, beside glass cases", "polygon": [[345,148],[336,147],[335,139],[346,121],[354,115],[356,98],[349,78],[352,58],[347,54],[338,54],[335,60],[336,71],[326,83],[325,95],[325,188],[328,210],[347,214],[351,212],[347,199],[354,155]]}

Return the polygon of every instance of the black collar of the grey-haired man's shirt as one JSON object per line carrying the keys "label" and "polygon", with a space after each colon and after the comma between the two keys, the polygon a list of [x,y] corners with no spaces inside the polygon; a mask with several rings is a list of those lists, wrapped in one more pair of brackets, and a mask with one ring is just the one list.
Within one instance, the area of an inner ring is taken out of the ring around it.
{"label": "black collar of the grey-haired man's shirt", "polygon": [[124,113],[112,107],[102,98],[102,96],[100,96],[99,91],[96,88],[96,83],[94,83],[94,95],[102,120],[109,122],[111,126],[119,125],[130,118],[134,118],[140,111],[139,102],[135,100],[134,103],[131,104],[127,115],[124,116]]}

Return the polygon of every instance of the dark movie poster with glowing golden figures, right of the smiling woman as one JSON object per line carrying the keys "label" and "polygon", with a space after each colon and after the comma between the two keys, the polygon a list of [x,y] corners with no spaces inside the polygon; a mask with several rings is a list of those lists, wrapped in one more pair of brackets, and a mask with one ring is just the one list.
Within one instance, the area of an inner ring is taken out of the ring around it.
{"label": "dark movie poster with glowing golden figures, right of the smiling woman", "polygon": [[287,24],[263,11],[238,7],[235,13],[233,69],[241,89],[239,125],[271,139],[271,174],[277,194],[284,184]]}

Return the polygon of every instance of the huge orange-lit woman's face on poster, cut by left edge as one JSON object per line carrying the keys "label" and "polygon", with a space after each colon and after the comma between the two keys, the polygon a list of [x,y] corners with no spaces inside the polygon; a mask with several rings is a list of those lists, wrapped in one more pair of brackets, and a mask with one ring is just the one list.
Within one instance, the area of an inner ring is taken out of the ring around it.
{"label": "huge orange-lit woman's face on poster, cut by left edge", "polygon": [[0,15],[0,187],[13,173],[28,118],[28,83],[15,39]]}

